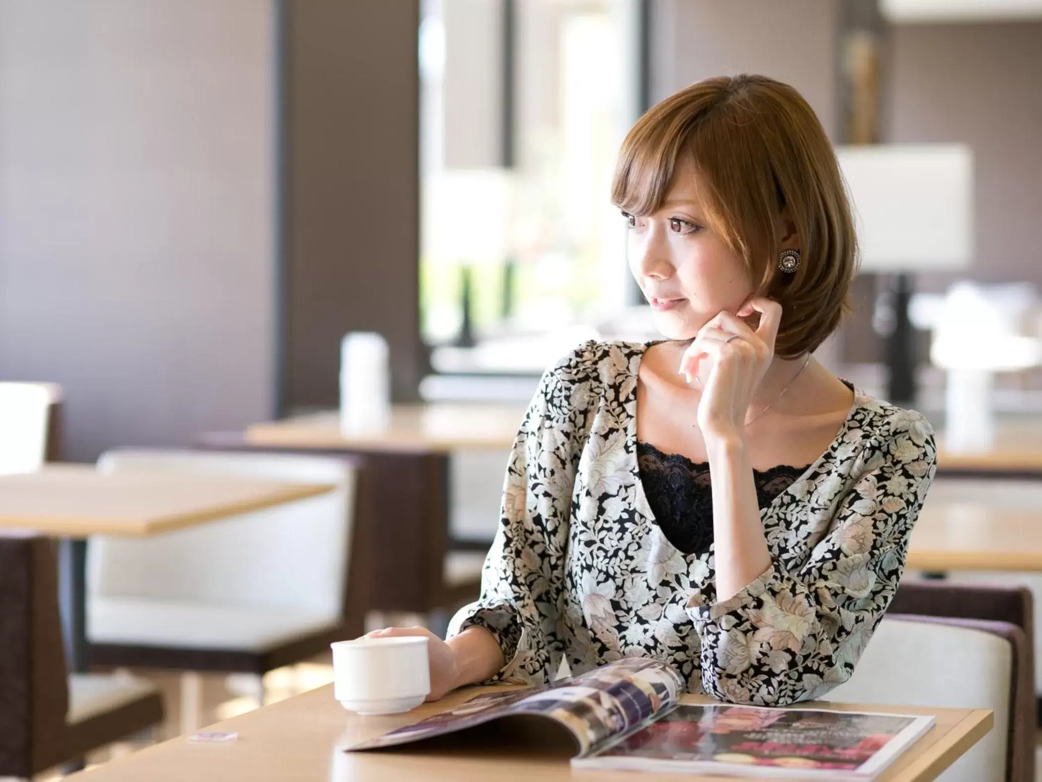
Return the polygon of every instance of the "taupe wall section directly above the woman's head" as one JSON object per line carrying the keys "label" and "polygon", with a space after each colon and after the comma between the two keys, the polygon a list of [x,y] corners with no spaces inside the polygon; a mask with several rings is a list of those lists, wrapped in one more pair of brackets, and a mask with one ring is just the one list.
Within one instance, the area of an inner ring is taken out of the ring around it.
{"label": "taupe wall section directly above the woman's head", "polygon": [[838,0],[652,0],[651,100],[710,76],[760,73],[795,87],[838,128]]}

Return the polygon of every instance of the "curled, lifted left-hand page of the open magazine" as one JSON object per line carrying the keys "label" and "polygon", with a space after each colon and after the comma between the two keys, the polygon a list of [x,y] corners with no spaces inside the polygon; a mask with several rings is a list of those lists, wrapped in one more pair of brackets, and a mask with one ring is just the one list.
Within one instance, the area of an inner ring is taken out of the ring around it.
{"label": "curled, lifted left-hand page of the open magazine", "polygon": [[669,665],[625,658],[552,685],[486,692],[414,725],[363,741],[349,751],[393,747],[443,736],[513,714],[535,714],[566,727],[580,755],[672,708],[684,688]]}

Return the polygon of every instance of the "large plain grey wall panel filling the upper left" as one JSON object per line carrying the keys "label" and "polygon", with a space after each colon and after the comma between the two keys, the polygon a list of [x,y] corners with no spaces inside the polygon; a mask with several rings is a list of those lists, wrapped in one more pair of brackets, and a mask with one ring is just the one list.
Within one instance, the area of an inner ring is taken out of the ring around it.
{"label": "large plain grey wall panel filling the upper left", "polygon": [[273,413],[274,10],[0,0],[0,378],[66,456]]}

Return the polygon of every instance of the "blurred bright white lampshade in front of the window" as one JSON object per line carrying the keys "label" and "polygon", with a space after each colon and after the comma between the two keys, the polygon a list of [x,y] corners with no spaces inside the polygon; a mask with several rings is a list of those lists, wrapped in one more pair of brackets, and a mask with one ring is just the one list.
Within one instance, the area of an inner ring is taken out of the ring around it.
{"label": "blurred bright white lampshade in front of the window", "polygon": [[513,179],[501,168],[446,169],[423,182],[423,255],[502,263],[511,250]]}

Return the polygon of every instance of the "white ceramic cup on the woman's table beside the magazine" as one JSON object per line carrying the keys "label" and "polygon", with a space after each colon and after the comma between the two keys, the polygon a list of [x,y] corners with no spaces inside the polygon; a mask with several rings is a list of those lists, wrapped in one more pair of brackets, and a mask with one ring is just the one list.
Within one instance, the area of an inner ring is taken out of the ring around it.
{"label": "white ceramic cup on the woman's table beside the magazine", "polygon": [[356,638],[332,649],[333,693],[359,714],[397,714],[430,692],[425,636]]}

